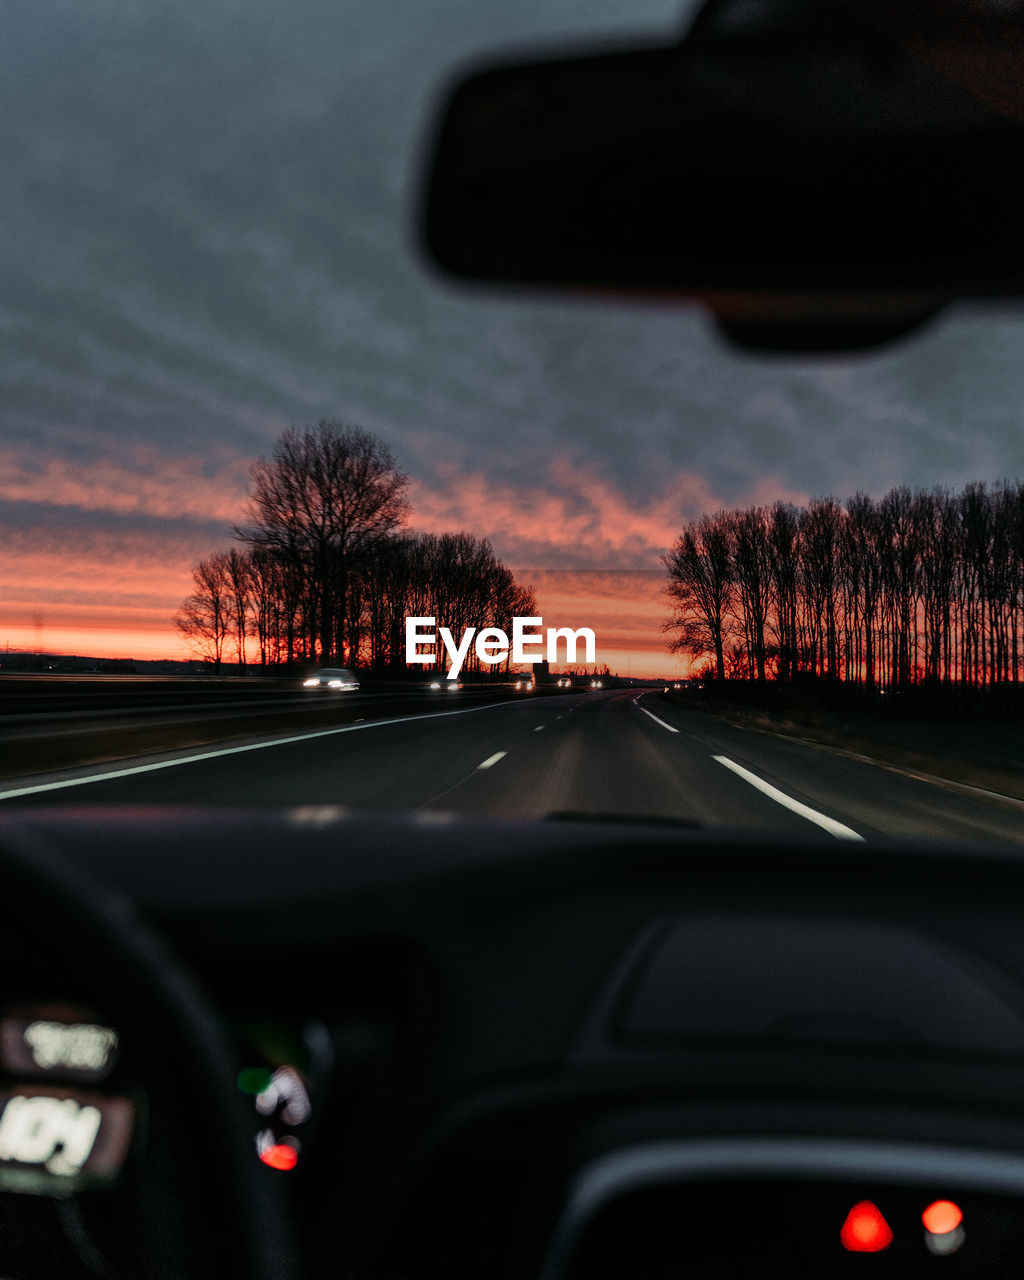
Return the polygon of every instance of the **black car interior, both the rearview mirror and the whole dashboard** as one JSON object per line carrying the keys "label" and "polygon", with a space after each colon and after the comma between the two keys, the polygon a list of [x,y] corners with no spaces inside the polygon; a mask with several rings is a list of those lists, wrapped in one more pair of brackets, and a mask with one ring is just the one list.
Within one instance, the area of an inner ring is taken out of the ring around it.
{"label": "black car interior, both the rearview mirror and the whole dashboard", "polygon": [[[760,351],[1009,305],[1021,33],[980,0],[710,0],[677,45],[471,68],[420,243],[474,287],[698,298]],[[1012,849],[1,822],[4,1280],[1024,1265]]]}

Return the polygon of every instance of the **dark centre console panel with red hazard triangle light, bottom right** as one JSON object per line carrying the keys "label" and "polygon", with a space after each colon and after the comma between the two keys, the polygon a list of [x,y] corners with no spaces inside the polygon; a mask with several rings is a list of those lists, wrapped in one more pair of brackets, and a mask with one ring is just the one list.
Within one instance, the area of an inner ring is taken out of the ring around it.
{"label": "dark centre console panel with red hazard triangle light, bottom right", "polygon": [[[952,1197],[950,1193],[952,1192]],[[1014,1194],[929,1183],[712,1178],[626,1190],[545,1274],[557,1280],[925,1280],[1024,1274]]]}

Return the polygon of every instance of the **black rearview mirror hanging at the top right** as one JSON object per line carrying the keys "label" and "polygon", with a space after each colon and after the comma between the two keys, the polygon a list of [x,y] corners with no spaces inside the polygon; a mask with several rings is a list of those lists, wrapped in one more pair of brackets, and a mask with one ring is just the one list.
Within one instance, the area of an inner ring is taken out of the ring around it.
{"label": "black rearview mirror hanging at the top right", "polygon": [[754,346],[1024,293],[1014,6],[712,0],[678,45],[476,70],[426,250],[461,279],[704,300]]}

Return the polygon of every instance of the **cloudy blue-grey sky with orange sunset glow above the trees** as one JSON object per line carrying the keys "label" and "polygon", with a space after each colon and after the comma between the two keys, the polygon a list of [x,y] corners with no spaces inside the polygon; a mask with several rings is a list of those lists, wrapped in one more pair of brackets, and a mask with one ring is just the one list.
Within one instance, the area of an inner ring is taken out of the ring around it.
{"label": "cloudy blue-grey sky with orange sunset glow above the trees", "polygon": [[490,538],[547,622],[602,639],[604,620],[617,652],[657,652],[650,571],[686,518],[1024,474],[1011,310],[762,358],[692,308],[458,289],[417,259],[421,143],[456,68],[668,38],[684,10],[6,0],[0,646],[179,655],[170,617],[229,544],[250,463],[321,419],[390,444],[415,527]]}

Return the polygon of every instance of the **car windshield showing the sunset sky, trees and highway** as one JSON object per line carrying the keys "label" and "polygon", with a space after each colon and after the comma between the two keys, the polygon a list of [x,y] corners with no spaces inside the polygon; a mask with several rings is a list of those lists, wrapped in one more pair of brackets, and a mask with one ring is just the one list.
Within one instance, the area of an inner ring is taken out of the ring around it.
{"label": "car windshield showing the sunset sky, trees and highway", "polygon": [[457,68],[694,9],[9,8],[6,805],[1019,838],[1016,311],[778,357],[417,247]]}

